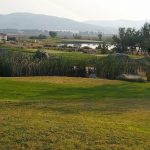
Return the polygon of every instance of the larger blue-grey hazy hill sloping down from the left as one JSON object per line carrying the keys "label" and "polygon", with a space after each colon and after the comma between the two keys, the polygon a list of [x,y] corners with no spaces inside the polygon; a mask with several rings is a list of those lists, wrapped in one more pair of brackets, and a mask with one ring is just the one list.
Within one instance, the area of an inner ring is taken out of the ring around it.
{"label": "larger blue-grey hazy hill sloping down from the left", "polygon": [[116,29],[111,27],[90,25],[66,18],[31,13],[0,15],[0,29],[99,31],[105,34],[116,33]]}

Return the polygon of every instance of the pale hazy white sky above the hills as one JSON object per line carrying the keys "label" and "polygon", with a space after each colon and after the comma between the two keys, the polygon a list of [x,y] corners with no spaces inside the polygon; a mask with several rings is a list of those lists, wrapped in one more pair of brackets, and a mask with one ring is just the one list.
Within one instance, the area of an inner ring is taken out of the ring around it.
{"label": "pale hazy white sky above the hills", "polygon": [[84,20],[150,19],[150,0],[0,0],[0,14],[32,12]]}

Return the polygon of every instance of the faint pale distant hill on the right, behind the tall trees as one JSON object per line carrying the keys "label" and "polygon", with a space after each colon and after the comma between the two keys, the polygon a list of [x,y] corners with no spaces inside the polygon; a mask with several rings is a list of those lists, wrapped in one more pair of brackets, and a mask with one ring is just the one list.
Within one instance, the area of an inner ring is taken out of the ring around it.
{"label": "faint pale distant hill on the right, behind the tall trees", "polygon": [[[104,26],[104,27],[111,27],[111,28],[119,28],[119,27],[134,27],[134,28],[141,28],[146,20],[89,20],[85,21],[84,23],[88,23],[91,25],[96,26]],[[147,20],[150,22],[150,20]]]}

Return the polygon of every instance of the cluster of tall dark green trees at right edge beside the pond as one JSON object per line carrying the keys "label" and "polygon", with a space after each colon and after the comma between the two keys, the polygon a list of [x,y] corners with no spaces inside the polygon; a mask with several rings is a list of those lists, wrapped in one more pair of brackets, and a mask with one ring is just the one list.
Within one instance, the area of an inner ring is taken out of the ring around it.
{"label": "cluster of tall dark green trees at right edge beside the pond", "polygon": [[113,36],[113,43],[119,53],[133,53],[138,48],[150,55],[150,23],[145,23],[139,30],[119,28],[119,34]]}

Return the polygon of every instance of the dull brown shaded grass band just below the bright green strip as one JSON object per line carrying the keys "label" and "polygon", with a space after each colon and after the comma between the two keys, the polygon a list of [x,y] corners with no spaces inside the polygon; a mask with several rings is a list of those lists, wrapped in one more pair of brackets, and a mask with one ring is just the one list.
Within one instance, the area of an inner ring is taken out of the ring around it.
{"label": "dull brown shaded grass band just below the bright green strip", "polygon": [[150,101],[144,99],[101,99],[101,100],[47,100],[47,101],[1,101],[0,109],[36,110],[44,113],[57,112],[65,115],[96,113],[117,115],[129,111],[150,111]]}

